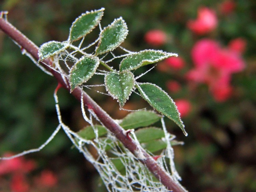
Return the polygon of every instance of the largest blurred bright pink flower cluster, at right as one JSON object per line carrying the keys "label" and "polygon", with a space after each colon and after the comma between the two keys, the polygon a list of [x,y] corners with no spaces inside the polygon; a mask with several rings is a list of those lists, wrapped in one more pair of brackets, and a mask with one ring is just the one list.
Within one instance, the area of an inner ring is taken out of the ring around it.
{"label": "largest blurred bright pink flower cluster, at right", "polygon": [[209,86],[216,101],[227,100],[231,95],[232,73],[240,72],[245,64],[240,54],[232,49],[224,49],[209,39],[198,41],[192,51],[195,69],[187,73],[187,78]]}

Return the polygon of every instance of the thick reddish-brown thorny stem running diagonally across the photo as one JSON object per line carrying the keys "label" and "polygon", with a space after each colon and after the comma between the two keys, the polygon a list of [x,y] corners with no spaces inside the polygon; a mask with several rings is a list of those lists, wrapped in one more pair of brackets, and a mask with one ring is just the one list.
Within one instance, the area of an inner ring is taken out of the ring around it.
{"label": "thick reddish-brown thorny stem running diagonally across the photo", "polygon": [[[0,29],[9,35],[10,38],[16,41],[36,60],[39,59],[38,47],[3,18],[0,18]],[[49,59],[45,59],[43,62],[47,65],[52,64],[51,60]],[[53,76],[57,79],[58,84],[70,92],[70,86],[65,83],[65,81],[68,82],[68,79],[65,77],[66,79],[64,80],[63,76],[47,67],[47,65],[45,65],[45,68],[53,74]],[[71,94],[77,100],[81,101],[81,88],[74,89]],[[89,107],[91,110],[93,110],[104,126],[109,129],[119,139],[119,141],[122,142],[124,146],[129,149],[155,175],[155,177],[160,180],[163,185],[167,187],[168,190],[175,192],[185,191],[180,184],[175,182],[172,177],[159,166],[154,158],[152,158],[144,149],[138,147],[133,139],[127,137],[124,129],[120,127],[120,125],[117,124],[93,99],[91,99],[86,92],[83,92],[83,101],[85,107]]]}

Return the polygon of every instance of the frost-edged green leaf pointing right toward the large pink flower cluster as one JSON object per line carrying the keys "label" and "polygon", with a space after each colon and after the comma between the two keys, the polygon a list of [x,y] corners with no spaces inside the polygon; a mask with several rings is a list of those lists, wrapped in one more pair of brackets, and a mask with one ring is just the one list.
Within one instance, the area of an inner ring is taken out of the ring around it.
{"label": "frost-edged green leaf pointing right toward the large pink flower cluster", "polygon": [[161,50],[143,50],[125,57],[120,63],[120,71],[134,70],[172,56],[177,56],[177,54],[167,53]]}

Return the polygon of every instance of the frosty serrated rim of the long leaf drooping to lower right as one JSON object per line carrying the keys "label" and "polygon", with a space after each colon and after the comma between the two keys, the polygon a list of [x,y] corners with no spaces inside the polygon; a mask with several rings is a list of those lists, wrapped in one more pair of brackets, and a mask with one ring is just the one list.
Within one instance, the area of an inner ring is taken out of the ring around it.
{"label": "frosty serrated rim of the long leaf drooping to lower right", "polygon": [[[159,90],[161,90],[162,92],[164,92],[167,96],[168,96],[168,98],[174,103],[174,106],[175,106],[175,109],[176,109],[176,112],[178,113],[178,115],[179,115],[179,119],[180,119],[180,122],[181,122],[181,124],[182,124],[182,127],[180,126],[180,125],[178,125],[180,128],[181,128],[181,130],[183,131],[183,133],[185,134],[185,136],[187,136],[187,132],[185,131],[185,125],[183,124],[183,121],[181,120],[181,114],[180,114],[180,112],[179,112],[179,110],[177,109],[177,106],[176,106],[176,104],[175,104],[175,102],[173,101],[173,99],[167,94],[167,92],[165,92],[164,90],[162,90],[159,86],[157,86],[157,85],[155,85],[155,84],[153,84],[153,83],[140,83],[140,84],[137,84],[138,86],[137,86],[137,88],[138,89],[140,89],[140,92],[143,94],[143,97],[145,97],[146,98],[146,101],[153,107],[153,105],[152,105],[152,102],[151,102],[151,100],[147,97],[147,95],[144,93],[144,91],[141,89],[141,87],[140,87],[140,85],[142,85],[142,84],[150,84],[150,85],[154,85],[156,88],[158,88]],[[153,107],[154,108],[154,107]],[[156,109],[157,110],[157,109]],[[158,110],[157,110],[158,111]],[[164,115],[162,112],[160,112],[160,111],[158,111],[160,114],[162,114],[162,115]],[[166,115],[164,115],[164,116],[166,116]],[[166,116],[167,117],[167,116]],[[172,117],[170,117],[170,116],[168,116],[168,118],[169,119],[171,119],[172,121],[176,121],[176,120],[174,120]],[[175,122],[176,123],[176,122]]]}

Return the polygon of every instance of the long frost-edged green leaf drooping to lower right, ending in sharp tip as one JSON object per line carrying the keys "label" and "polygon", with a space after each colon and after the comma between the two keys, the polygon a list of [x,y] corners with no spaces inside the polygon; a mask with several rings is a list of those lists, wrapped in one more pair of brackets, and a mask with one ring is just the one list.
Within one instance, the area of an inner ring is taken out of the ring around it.
{"label": "long frost-edged green leaf drooping to lower right, ending in sharp tip", "polygon": [[173,120],[183,133],[187,136],[185,131],[185,126],[180,118],[180,113],[177,110],[177,107],[174,101],[169,97],[169,95],[163,91],[160,87],[151,84],[143,83],[137,86],[142,97],[159,113],[165,115],[169,119]]}

